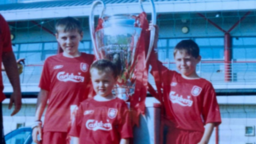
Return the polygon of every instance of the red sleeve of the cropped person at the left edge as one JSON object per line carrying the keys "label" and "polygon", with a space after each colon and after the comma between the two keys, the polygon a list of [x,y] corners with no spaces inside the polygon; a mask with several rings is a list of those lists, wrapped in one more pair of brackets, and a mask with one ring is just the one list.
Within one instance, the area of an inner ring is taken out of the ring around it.
{"label": "red sleeve of the cropped person at the left edge", "polygon": [[11,33],[10,33],[9,25],[1,14],[0,14],[0,26],[1,26],[0,32],[2,35],[2,42],[3,42],[3,52],[11,52],[12,43],[11,43]]}

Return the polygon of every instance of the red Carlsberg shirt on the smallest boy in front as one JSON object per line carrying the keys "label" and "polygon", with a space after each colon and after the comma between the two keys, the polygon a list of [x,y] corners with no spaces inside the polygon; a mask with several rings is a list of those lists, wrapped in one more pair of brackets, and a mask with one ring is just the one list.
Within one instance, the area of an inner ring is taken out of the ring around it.
{"label": "red Carlsberg shirt on the smallest boy in front", "polygon": [[78,137],[80,143],[119,144],[121,139],[133,137],[129,109],[118,98],[89,98],[79,105],[69,135]]}

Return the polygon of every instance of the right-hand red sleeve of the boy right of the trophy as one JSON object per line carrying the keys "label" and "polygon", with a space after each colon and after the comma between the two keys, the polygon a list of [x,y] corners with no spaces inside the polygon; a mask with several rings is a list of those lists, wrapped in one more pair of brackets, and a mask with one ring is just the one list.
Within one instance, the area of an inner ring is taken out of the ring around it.
{"label": "right-hand red sleeve of the boy right of the trophy", "polygon": [[216,93],[210,84],[205,89],[203,99],[203,118],[204,123],[215,123],[218,126],[221,123],[220,108],[217,102]]}

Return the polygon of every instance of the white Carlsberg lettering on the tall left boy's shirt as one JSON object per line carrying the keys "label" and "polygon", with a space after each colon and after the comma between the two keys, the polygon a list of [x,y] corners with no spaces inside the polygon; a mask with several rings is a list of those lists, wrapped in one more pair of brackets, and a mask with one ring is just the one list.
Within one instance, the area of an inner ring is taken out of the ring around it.
{"label": "white Carlsberg lettering on the tall left boy's shirt", "polygon": [[75,82],[75,83],[79,83],[79,82],[84,82],[84,77],[81,75],[74,75],[73,73],[69,74],[66,73],[65,71],[60,71],[57,74],[57,79],[59,79],[59,81],[62,82]]}

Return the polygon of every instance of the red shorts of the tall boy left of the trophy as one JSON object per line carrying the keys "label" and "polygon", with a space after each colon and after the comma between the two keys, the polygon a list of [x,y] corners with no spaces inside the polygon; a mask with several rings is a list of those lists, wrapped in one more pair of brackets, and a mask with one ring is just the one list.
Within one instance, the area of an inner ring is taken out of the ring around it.
{"label": "red shorts of the tall boy left of the trophy", "polygon": [[42,144],[69,144],[67,132],[44,132]]}

